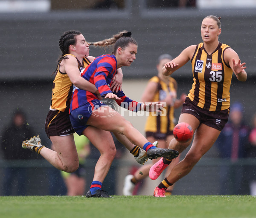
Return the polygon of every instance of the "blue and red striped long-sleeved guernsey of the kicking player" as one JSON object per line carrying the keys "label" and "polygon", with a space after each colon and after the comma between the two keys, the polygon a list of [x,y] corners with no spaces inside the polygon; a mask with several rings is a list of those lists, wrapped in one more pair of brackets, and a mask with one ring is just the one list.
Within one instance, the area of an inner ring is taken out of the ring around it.
{"label": "blue and red striped long-sleeved guernsey of the kicking player", "polygon": [[[88,65],[81,73],[81,77],[85,80],[93,83],[99,90],[102,97],[105,97],[108,93],[111,93],[110,86],[112,84],[113,76],[116,74],[116,57],[115,55],[105,54],[96,57],[90,65]],[[140,110],[141,103],[131,100],[122,91],[113,92],[122,100],[116,100],[119,106],[125,109],[137,112]],[[72,100],[70,104],[70,112],[74,109],[82,106],[93,99],[98,99],[96,95],[83,89],[78,89],[74,86]]]}

